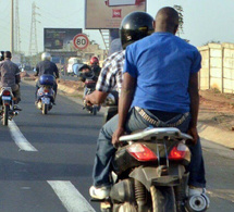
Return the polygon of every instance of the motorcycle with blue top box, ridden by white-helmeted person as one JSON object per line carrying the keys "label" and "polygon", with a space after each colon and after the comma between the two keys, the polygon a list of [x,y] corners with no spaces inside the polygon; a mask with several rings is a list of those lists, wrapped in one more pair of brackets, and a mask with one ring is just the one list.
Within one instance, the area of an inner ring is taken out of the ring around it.
{"label": "motorcycle with blue top box, ridden by white-helmeted person", "polygon": [[56,78],[52,75],[41,75],[39,78],[40,87],[37,90],[37,109],[42,111],[42,114],[47,114],[48,111],[52,109],[56,99],[56,92],[53,90],[53,85]]}

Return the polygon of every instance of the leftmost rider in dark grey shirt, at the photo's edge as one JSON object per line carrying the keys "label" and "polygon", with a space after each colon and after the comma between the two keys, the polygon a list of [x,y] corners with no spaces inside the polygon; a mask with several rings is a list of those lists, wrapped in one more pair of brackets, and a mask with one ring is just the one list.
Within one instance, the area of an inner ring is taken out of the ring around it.
{"label": "leftmost rider in dark grey shirt, at the photo's edge", "polygon": [[[19,66],[11,61],[12,54],[10,51],[1,52],[0,63],[0,87],[11,87],[14,97],[16,98],[15,104],[21,101],[21,71]],[[15,105],[20,110],[20,107]]]}

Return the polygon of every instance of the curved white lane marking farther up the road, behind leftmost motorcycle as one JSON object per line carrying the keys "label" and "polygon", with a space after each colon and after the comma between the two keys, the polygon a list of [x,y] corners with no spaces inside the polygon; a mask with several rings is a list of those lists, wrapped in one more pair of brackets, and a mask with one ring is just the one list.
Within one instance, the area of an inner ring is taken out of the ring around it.
{"label": "curved white lane marking farther up the road, behind leftmost motorcycle", "polygon": [[20,150],[37,151],[37,149],[27,141],[13,120],[8,123],[8,126],[14,142],[20,147]]}

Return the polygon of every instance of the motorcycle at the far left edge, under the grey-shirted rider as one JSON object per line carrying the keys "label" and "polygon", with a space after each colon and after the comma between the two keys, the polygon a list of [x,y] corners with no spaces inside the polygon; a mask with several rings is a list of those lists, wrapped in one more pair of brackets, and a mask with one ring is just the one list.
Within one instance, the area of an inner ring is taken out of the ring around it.
{"label": "motorcycle at the far left edge, under the grey-shirted rider", "polygon": [[14,97],[11,87],[2,87],[0,91],[0,119],[2,121],[2,125],[8,126],[9,120],[11,121],[14,116],[19,114],[20,109],[15,107],[14,101],[16,98]]}

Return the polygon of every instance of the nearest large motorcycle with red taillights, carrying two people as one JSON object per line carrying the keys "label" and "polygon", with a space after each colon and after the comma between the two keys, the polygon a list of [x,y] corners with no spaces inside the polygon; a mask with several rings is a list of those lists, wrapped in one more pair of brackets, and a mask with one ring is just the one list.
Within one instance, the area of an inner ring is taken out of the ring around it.
{"label": "nearest large motorcycle with red taillights, carrying two people", "polygon": [[[118,113],[116,96],[106,101],[104,122]],[[120,138],[112,161],[110,197],[101,212],[202,212],[209,208],[205,194],[188,197],[192,137],[174,127],[149,127]]]}

